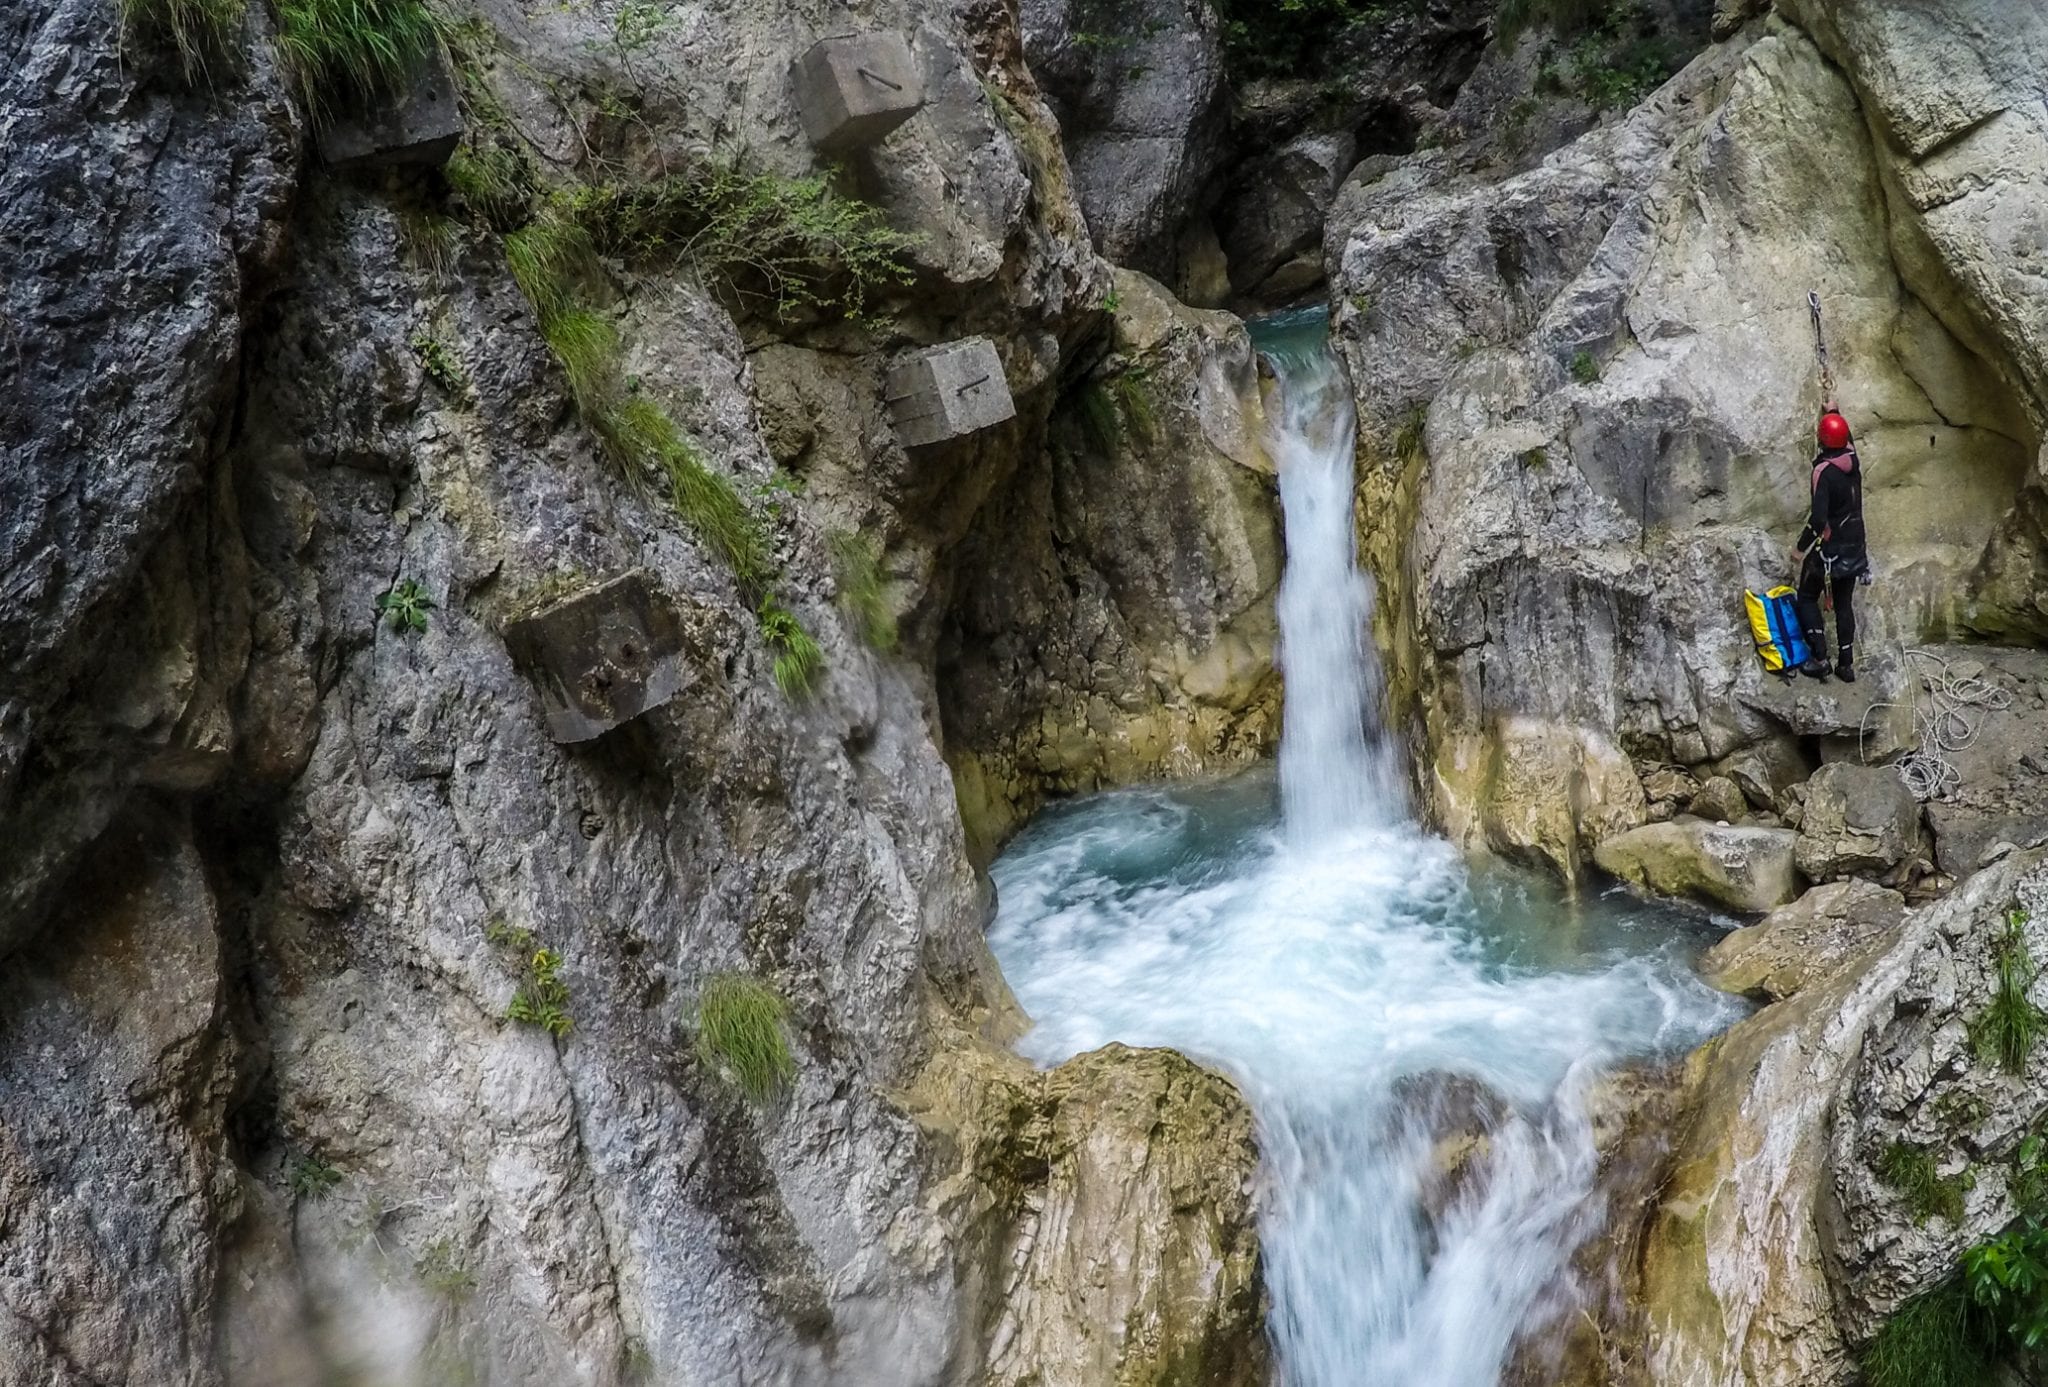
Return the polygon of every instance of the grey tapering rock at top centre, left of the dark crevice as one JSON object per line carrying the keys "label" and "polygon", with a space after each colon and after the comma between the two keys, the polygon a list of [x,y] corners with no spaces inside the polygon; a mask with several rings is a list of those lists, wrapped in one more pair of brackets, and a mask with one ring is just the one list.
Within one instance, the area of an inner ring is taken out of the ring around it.
{"label": "grey tapering rock at top centre, left of the dark crevice", "polygon": [[1024,0],[1020,16],[1096,250],[1178,285],[1182,229],[1229,133],[1217,12],[1186,0]]}

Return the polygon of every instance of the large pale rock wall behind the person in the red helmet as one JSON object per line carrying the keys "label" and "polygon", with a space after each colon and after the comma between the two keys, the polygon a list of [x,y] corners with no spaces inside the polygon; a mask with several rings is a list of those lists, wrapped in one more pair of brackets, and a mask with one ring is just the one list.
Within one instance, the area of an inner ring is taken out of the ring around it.
{"label": "large pale rock wall behind the person in the red helmet", "polygon": [[[1882,760],[1913,742],[1892,643],[2040,629],[2048,297],[2019,293],[2042,260],[2017,207],[2048,158],[2013,92],[2048,16],[1782,8],[1798,27],[1747,25],[1505,180],[1372,162],[1331,211],[1376,635],[1432,809],[1475,846],[1503,727],[1673,766],[1788,735]],[[1927,53],[1972,94],[1937,96]],[[1972,129],[1954,102],[2009,111]],[[1880,568],[1853,686],[1763,676],[1741,625],[1802,516],[1808,287]],[[1571,811],[1565,779],[1548,795]]]}

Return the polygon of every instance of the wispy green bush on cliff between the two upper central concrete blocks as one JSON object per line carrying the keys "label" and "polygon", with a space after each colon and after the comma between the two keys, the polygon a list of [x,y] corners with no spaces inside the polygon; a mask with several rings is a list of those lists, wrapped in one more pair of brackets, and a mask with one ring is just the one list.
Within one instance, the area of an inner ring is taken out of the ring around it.
{"label": "wispy green bush on cliff between the two upper central concrete blocks", "polygon": [[575,211],[604,250],[680,260],[741,299],[766,299],[776,318],[860,318],[872,295],[911,283],[905,254],[920,242],[823,174],[750,174],[735,160],[588,188]]}

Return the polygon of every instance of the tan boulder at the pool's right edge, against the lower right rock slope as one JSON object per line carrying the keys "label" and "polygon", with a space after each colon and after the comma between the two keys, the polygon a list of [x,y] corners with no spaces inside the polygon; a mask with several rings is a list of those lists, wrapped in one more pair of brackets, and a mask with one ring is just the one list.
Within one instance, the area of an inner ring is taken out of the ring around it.
{"label": "tan boulder at the pool's right edge, against the lower right rock slope", "polygon": [[1726,934],[1700,959],[1700,975],[1722,992],[1784,1002],[1888,940],[1905,910],[1898,891],[1831,881]]}

